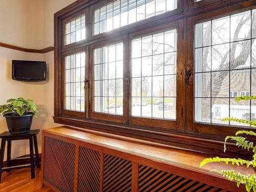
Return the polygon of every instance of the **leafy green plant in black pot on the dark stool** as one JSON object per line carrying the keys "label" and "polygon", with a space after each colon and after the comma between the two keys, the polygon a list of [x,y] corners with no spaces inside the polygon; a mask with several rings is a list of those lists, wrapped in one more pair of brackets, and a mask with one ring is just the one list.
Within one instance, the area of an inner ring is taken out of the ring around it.
{"label": "leafy green plant in black pot on the dark stool", "polygon": [[0,115],[6,118],[11,134],[27,133],[30,130],[33,116],[37,117],[37,106],[31,99],[19,97],[8,99],[7,104],[0,105]]}

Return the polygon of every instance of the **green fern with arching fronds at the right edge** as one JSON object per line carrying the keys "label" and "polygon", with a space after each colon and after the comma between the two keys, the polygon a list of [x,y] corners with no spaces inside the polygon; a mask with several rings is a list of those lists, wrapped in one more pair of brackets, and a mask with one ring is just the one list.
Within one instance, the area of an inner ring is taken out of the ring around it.
{"label": "green fern with arching fronds at the right edge", "polygon": [[[237,97],[236,100],[239,102],[241,100],[250,100],[250,99],[256,99],[256,96],[242,96],[242,97]],[[234,122],[239,122],[239,123],[247,123],[252,127],[256,127],[256,120],[242,120],[238,118],[233,118],[233,117],[227,117],[222,119],[222,121],[234,121]],[[247,138],[243,137],[243,135],[251,135],[251,136],[256,136],[256,133],[253,131],[238,131],[235,136],[227,136],[225,138],[224,142],[224,152],[226,152],[226,142],[228,139],[236,141],[236,145],[238,147],[243,148],[244,150],[247,151],[252,151],[253,156],[252,160],[244,160],[244,159],[236,159],[236,158],[220,158],[220,157],[214,157],[214,158],[206,158],[200,163],[200,167],[204,166],[207,163],[212,163],[212,162],[225,162],[226,164],[231,163],[232,165],[246,165],[247,168],[250,166],[253,167],[254,169],[256,168],[256,145],[253,144],[253,142],[249,141]],[[220,173],[223,175],[225,178],[227,178],[230,181],[237,181],[237,186],[239,187],[241,183],[245,184],[246,190],[249,192],[251,189],[256,192],[256,175],[251,174],[251,175],[245,175],[241,174],[239,172],[234,172],[234,170],[212,170],[213,172]]]}

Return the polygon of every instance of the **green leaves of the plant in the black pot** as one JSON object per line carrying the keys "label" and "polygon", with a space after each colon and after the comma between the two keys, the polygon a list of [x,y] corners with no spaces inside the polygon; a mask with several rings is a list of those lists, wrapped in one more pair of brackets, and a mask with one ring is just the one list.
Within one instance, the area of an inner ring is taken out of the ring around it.
{"label": "green leaves of the plant in the black pot", "polygon": [[37,106],[31,99],[19,97],[17,99],[8,99],[7,104],[0,105],[0,115],[14,113],[19,116],[27,115],[33,112],[37,117]]}

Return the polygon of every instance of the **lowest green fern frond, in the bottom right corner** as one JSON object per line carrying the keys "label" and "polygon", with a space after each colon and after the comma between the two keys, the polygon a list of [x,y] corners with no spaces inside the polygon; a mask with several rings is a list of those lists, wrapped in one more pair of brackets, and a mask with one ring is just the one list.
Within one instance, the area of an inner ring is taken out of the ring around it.
{"label": "lowest green fern frond, in the bottom right corner", "polygon": [[252,175],[244,175],[241,173],[236,173],[233,170],[214,170],[214,172],[220,173],[225,178],[230,181],[237,181],[237,186],[239,187],[241,183],[245,184],[246,190],[249,192],[251,189],[256,191],[256,176]]}

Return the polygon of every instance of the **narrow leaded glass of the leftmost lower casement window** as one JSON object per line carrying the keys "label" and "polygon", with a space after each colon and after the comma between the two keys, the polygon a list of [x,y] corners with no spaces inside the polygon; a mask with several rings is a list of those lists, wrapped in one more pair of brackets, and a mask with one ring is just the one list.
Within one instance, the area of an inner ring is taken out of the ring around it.
{"label": "narrow leaded glass of the leftmost lower casement window", "polygon": [[86,53],[65,56],[65,110],[84,112]]}

